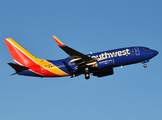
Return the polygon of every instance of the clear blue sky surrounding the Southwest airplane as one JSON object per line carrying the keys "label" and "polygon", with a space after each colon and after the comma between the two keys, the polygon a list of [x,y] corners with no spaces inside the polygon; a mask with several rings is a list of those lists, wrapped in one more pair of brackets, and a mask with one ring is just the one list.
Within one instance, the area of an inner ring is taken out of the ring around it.
{"label": "clear blue sky surrounding the Southwest airplane", "polygon": [[[115,68],[113,76],[71,79],[10,76],[4,38],[38,58],[68,55],[55,43],[88,54],[128,46],[158,50],[148,67]],[[161,0],[1,0],[0,120],[161,120]]]}

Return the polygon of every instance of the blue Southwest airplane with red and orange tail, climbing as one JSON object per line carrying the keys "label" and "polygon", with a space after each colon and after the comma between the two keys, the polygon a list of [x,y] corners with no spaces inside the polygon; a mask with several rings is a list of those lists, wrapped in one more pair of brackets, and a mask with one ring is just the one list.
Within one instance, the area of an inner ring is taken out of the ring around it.
{"label": "blue Southwest airplane with red and orange tail, climbing", "polygon": [[158,54],[158,51],[148,47],[125,47],[97,53],[83,54],[64,45],[56,36],[53,36],[58,46],[65,51],[69,57],[60,60],[39,59],[20,46],[12,38],[4,39],[15,63],[8,63],[15,73],[12,75],[24,75],[33,77],[64,77],[71,78],[85,75],[105,77],[114,74],[113,68],[125,65],[146,63]]}

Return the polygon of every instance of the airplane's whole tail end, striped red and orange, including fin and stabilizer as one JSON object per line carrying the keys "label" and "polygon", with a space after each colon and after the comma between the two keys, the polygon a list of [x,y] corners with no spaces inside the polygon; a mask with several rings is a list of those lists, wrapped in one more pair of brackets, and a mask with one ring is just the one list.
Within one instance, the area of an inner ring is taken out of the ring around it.
{"label": "airplane's whole tail end, striped red and orange, including fin and stabilizer", "polygon": [[[5,42],[11,52],[14,61],[18,64],[8,63],[12,68],[15,69],[16,73],[20,75],[28,76],[46,76],[46,77],[60,77],[68,76],[57,66],[45,59],[39,59],[25,50],[12,38],[6,38]],[[13,75],[14,75],[13,74]]]}

